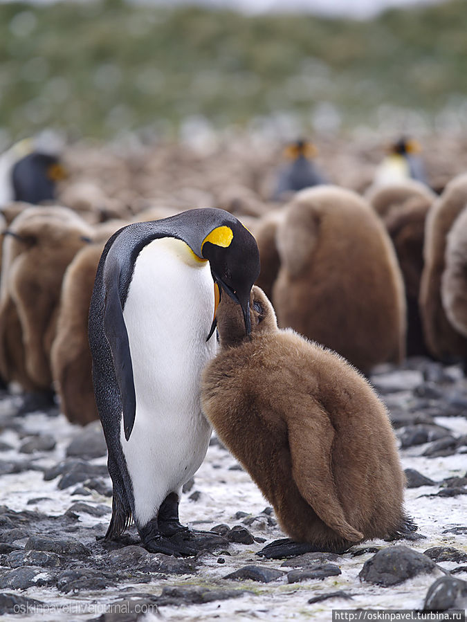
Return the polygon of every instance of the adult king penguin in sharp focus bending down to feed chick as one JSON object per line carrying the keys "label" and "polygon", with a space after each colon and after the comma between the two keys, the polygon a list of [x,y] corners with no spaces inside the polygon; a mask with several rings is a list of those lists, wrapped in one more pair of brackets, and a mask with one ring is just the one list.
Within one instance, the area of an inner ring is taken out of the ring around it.
{"label": "adult king penguin in sharp focus bending down to feed chick", "polygon": [[255,239],[218,209],[133,223],[104,247],[89,343],[113,482],[106,539],[120,536],[133,516],[148,551],[196,552],[178,502],[210,439],[201,371],[216,350],[220,289],[240,305],[249,334],[258,275]]}

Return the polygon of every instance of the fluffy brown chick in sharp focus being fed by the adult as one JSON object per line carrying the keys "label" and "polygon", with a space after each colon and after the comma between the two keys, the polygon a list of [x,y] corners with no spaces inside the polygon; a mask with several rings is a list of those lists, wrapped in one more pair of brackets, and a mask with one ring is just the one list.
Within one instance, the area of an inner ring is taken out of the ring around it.
{"label": "fluffy brown chick in sharp focus being fed by the adult", "polygon": [[203,371],[201,403],[221,441],[311,550],[341,552],[414,529],[385,406],[337,354],[277,329],[271,302],[250,297],[251,337],[227,295],[221,349]]}

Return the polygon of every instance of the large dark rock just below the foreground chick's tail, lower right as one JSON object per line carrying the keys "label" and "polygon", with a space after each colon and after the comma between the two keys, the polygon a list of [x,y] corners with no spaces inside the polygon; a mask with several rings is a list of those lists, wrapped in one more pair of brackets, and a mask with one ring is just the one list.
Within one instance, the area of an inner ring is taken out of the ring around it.
{"label": "large dark rock just below the foreground chick's tail, lower right", "polygon": [[383,587],[403,583],[417,574],[434,571],[437,565],[429,557],[408,547],[390,547],[378,551],[361,569],[360,580]]}

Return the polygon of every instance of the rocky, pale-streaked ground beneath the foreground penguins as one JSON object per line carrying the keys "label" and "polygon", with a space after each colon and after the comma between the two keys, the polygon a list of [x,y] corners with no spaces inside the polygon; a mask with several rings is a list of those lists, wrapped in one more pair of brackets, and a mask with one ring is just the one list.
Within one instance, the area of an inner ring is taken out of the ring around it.
{"label": "rocky, pale-streaked ground beneath the foreground penguins", "polygon": [[[408,474],[413,539],[342,556],[258,556],[281,538],[273,510],[212,438],[185,486],[181,520],[196,557],[149,554],[130,530],[100,539],[111,486],[98,424],[58,408],[20,414],[0,396],[0,614],[15,621],[331,620],[333,609],[446,609],[467,602],[467,380],[457,366],[412,359],[372,376],[390,408]],[[351,440],[349,440],[351,442]],[[434,587],[433,587],[434,586]]]}

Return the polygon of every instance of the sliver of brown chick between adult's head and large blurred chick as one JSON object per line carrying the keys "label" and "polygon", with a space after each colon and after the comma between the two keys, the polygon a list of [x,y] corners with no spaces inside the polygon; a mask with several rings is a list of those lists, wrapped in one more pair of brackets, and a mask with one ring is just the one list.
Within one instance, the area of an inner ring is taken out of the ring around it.
{"label": "sliver of brown chick between adult's head and large blurred chick", "polygon": [[273,210],[259,219],[253,232],[261,261],[261,272],[256,284],[261,287],[268,298],[273,297],[273,285],[280,268],[280,257],[275,237],[277,227],[283,219],[284,210]]}

